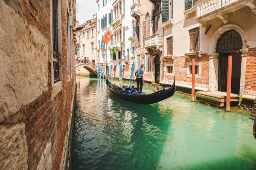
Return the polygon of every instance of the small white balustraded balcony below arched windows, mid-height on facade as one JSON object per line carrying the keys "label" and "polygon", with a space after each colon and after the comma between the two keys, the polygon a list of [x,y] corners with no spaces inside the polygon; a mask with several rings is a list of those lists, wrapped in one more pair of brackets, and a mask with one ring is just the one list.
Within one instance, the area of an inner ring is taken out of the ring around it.
{"label": "small white balustraded balcony below arched windows, mid-height on facade", "polygon": [[161,34],[155,34],[147,37],[145,39],[145,48],[158,48],[160,51],[162,51],[162,35]]}

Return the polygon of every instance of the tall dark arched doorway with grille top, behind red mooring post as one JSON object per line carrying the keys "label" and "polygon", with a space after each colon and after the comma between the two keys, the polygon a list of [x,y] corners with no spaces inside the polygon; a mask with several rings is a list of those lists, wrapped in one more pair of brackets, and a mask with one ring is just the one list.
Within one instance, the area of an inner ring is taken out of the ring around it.
{"label": "tall dark arched doorway with grille top, behind red mooring post", "polygon": [[232,83],[231,93],[239,94],[241,79],[241,52],[243,40],[236,30],[224,32],[218,39],[216,52],[219,53],[218,91],[227,92],[227,62],[232,55]]}

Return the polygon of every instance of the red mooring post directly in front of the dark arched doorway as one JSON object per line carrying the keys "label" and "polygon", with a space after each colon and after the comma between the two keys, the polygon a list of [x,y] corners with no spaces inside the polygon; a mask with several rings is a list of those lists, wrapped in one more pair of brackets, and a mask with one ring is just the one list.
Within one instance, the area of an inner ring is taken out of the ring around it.
{"label": "red mooring post directly in front of the dark arched doorway", "polygon": [[228,64],[227,64],[227,104],[226,104],[226,111],[230,111],[231,78],[232,78],[232,56],[228,56]]}

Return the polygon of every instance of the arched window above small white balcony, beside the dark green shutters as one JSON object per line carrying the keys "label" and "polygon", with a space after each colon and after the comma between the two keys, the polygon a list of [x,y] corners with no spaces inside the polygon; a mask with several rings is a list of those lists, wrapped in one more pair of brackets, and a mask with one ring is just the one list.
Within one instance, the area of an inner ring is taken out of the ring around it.
{"label": "arched window above small white balcony, beside the dark green shutters", "polygon": [[153,13],[153,34],[162,34],[162,11],[160,6],[157,6]]}

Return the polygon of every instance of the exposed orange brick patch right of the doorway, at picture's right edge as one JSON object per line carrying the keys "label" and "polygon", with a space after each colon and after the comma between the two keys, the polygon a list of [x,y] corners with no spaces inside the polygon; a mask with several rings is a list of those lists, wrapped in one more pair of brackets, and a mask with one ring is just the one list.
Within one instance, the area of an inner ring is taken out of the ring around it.
{"label": "exposed orange brick patch right of the doorway, at picture's right edge", "polygon": [[247,54],[245,89],[256,91],[256,48],[250,49]]}

